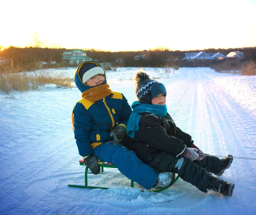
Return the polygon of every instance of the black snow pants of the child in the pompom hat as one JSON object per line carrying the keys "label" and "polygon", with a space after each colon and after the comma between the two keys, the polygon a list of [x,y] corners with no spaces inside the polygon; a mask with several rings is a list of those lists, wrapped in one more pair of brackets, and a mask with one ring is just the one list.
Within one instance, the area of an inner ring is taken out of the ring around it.
{"label": "black snow pants of the child in the pompom hat", "polygon": [[[182,165],[175,167],[180,159],[183,159]],[[175,172],[183,181],[191,183],[202,192],[207,192],[207,188],[212,183],[209,172],[214,173],[220,162],[221,160],[214,156],[206,156],[201,161],[191,161],[162,152],[147,164],[159,172]]]}

